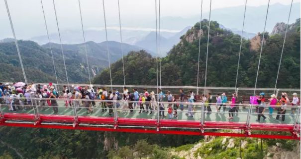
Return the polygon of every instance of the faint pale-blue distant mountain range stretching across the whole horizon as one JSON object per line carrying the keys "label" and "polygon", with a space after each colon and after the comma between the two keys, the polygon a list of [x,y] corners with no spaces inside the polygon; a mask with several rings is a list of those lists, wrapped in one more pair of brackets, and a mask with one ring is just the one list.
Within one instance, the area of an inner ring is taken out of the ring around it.
{"label": "faint pale-blue distant mountain range stretching across the whole horizon", "polygon": [[[213,3],[214,5],[214,3]],[[122,6],[121,6],[122,7]],[[55,25],[55,19],[53,19],[53,10],[50,7],[50,12],[47,14],[47,22],[50,29],[51,42],[58,43],[57,41],[57,29]],[[164,7],[162,8],[164,10]],[[270,4],[269,14],[267,19],[267,31],[272,32],[274,25],[277,22],[286,22],[289,16],[290,4],[280,4],[274,3]],[[3,8],[5,10],[5,8]],[[203,6],[203,10],[208,10],[207,6]],[[251,6],[247,4],[246,8],[246,18],[245,18],[245,29],[244,31],[248,33],[258,33],[262,32],[264,28],[264,18],[267,10],[267,5]],[[233,30],[242,30],[242,20],[243,20],[244,5],[216,8],[211,10],[211,20],[218,21],[219,24],[224,25],[226,28]],[[122,12],[121,12],[122,13]],[[179,11],[181,13],[181,11]],[[122,36],[123,41],[128,44],[132,44],[136,40],[145,37],[151,31],[155,30],[155,19],[152,15],[144,15],[141,13],[143,18],[139,19],[139,16],[131,17],[121,17],[122,23]],[[27,15],[24,13],[24,16]],[[83,43],[82,31],[80,30],[79,17],[76,14],[68,14],[70,16],[63,16],[60,18],[60,29],[62,33],[62,41],[64,44],[79,44]],[[208,11],[203,11],[202,19],[208,19]],[[32,40],[38,42],[39,44],[48,43],[47,38],[39,39],[38,37],[45,36],[46,31],[43,23],[43,19],[40,13],[35,13],[31,18],[24,18],[23,16],[13,16],[12,20],[14,22],[14,27],[16,31],[16,36],[18,39]],[[292,23],[295,19],[300,17],[300,2],[293,3],[291,21]],[[64,23],[65,19],[68,23]],[[97,43],[103,42],[105,39],[104,28],[100,27],[103,25],[103,21],[98,20],[95,22],[97,17],[87,16],[84,17],[84,26],[86,32],[87,41],[94,41]],[[6,13],[0,14],[0,19],[3,21],[3,25],[0,30],[0,39],[11,37],[11,30],[9,26],[9,21]],[[72,20],[74,19],[74,20]],[[22,22],[26,20],[26,25],[22,25]],[[54,21],[53,21],[54,20]],[[200,13],[194,12],[189,16],[184,16],[181,14],[175,14],[174,16],[161,16],[161,31],[166,31],[169,33],[176,33],[183,30],[187,26],[191,26],[196,21],[200,21]],[[32,27],[31,24],[38,23],[40,27]],[[97,25],[98,24],[98,25]],[[26,32],[24,32],[26,31]],[[100,31],[100,32],[95,32]],[[69,34],[64,32],[70,32]],[[91,34],[89,33],[91,32]],[[97,34],[95,34],[97,33]],[[163,35],[163,33],[162,33]],[[165,35],[163,35],[167,38]],[[36,37],[36,38],[33,38]],[[69,39],[70,37],[70,39]],[[119,23],[117,21],[111,22],[108,26],[108,40],[109,41],[120,41],[119,37]],[[41,43],[39,42],[41,41]],[[66,43],[67,42],[67,43]]]}

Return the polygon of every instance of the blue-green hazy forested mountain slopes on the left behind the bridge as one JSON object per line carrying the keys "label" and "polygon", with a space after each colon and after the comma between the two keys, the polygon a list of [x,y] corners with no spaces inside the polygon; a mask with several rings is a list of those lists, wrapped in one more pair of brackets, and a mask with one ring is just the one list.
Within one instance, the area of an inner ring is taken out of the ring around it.
{"label": "blue-green hazy forested mountain slopes on the left behind the bridge", "polygon": [[[49,44],[39,46],[32,41],[18,41],[25,73],[29,82],[53,82],[56,83]],[[93,78],[103,68],[108,67],[106,42],[85,44],[63,45],[66,69],[69,82],[83,83],[89,81],[85,46],[89,61],[89,69]],[[60,83],[66,83],[65,67],[59,44],[51,43],[57,76]],[[129,44],[122,44],[123,53],[139,51],[141,48]],[[109,41],[108,49],[110,62],[115,62],[122,57],[120,43]],[[0,42],[0,80],[23,81],[19,58],[12,39]]]}

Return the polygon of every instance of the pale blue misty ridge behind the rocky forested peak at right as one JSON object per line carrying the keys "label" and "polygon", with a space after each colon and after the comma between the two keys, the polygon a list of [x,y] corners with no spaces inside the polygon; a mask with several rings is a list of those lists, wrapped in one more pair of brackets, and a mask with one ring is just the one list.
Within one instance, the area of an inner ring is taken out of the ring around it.
{"label": "pale blue misty ridge behind the rocky forested peak at right", "polygon": [[[211,10],[211,20],[218,21],[226,28],[231,30],[242,30],[242,22],[244,15],[244,5],[218,8]],[[289,17],[290,5],[280,3],[271,4],[269,7],[268,20],[266,30],[272,32],[273,27],[277,22],[287,22]],[[249,33],[262,32],[264,28],[265,15],[267,12],[267,5],[247,6],[244,31]],[[200,12],[201,14],[201,12]],[[162,17],[162,28],[181,29],[196,21],[200,21],[200,14],[189,17]],[[202,13],[202,19],[208,19],[209,12]],[[300,18],[300,2],[293,3],[291,21]],[[153,21],[155,22],[155,21]]]}

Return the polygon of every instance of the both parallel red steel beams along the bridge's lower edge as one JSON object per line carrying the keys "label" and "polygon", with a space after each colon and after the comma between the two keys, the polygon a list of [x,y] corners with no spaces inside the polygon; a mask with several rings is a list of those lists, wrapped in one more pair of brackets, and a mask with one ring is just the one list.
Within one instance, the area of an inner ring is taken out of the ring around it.
{"label": "both parallel red steel beams along the bridge's lower edge", "polygon": [[[34,114],[26,113],[5,113],[0,117],[0,126],[300,140],[300,125],[296,130],[292,124],[251,123],[247,127],[241,122],[205,121],[201,125],[200,121],[160,119],[158,123],[157,119],[140,118],[118,118],[115,121],[114,117],[96,116],[78,116],[78,122],[75,123],[71,115],[40,114],[37,119]],[[240,129],[244,133],[214,132],[214,129]],[[264,134],[253,134],[252,130],[262,130]],[[290,132],[291,135],[273,135],[270,132]]]}

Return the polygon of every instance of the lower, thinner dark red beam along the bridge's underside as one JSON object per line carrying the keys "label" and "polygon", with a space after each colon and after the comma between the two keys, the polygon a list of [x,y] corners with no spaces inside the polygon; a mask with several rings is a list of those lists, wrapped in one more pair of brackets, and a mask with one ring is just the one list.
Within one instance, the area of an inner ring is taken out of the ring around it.
{"label": "lower, thinner dark red beam along the bridge's underside", "polygon": [[209,135],[209,136],[231,136],[231,137],[251,137],[251,138],[266,138],[266,139],[290,139],[300,140],[297,136],[288,135],[267,135],[267,134],[240,134],[240,133],[223,133],[223,132],[197,132],[197,131],[179,131],[179,130],[160,130],[154,129],[129,129],[129,128],[105,128],[105,127],[89,127],[89,126],[67,126],[67,125],[33,125],[27,123],[1,123],[0,126],[14,127],[30,127],[30,128],[51,128],[51,129],[69,129],[69,130],[90,130],[90,131],[111,131],[111,132],[128,132],[128,133],[152,133],[152,134],[173,134],[173,135]]}

